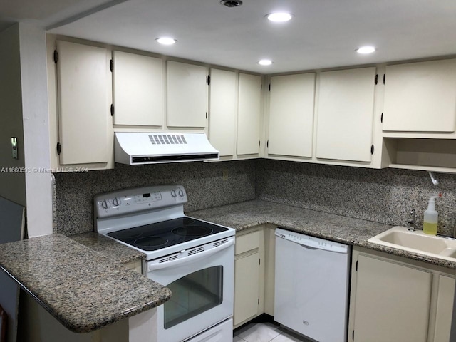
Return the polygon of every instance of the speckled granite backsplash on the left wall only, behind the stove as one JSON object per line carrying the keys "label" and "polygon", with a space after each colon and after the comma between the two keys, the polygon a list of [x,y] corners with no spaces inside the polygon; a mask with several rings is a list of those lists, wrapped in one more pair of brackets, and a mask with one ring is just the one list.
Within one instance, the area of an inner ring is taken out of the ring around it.
{"label": "speckled granite backsplash on the left wall only, behind the stove", "polygon": [[[224,172],[227,180],[223,179]],[[185,211],[255,199],[255,160],[180,162],[155,165],[115,164],[113,170],[56,173],[54,233],[93,231],[93,196],[127,187],[183,185]]]}

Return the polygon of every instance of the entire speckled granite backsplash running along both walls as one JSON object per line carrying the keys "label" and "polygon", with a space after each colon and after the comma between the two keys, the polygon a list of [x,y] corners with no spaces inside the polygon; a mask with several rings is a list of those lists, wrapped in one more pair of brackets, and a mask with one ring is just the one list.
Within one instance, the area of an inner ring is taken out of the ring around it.
{"label": "entire speckled granite backsplash running along both walls", "polygon": [[[227,180],[223,179],[224,172]],[[113,170],[56,173],[54,232],[93,231],[93,196],[146,185],[180,184],[187,190],[185,211],[262,199],[304,209],[341,214],[384,224],[404,224],[416,209],[418,227],[435,192],[439,232],[456,227],[456,175],[425,171],[343,167],[281,160],[183,162],[121,165]]]}

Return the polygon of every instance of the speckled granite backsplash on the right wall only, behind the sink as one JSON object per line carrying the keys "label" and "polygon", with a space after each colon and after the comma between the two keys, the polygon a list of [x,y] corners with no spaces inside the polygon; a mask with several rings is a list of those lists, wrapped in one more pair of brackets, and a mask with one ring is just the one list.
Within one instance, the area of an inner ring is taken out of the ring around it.
{"label": "speckled granite backsplash on the right wall only, behind the sink", "polygon": [[456,227],[456,175],[436,173],[437,187],[425,171],[366,169],[281,160],[257,161],[257,199],[331,214],[404,225],[416,210],[417,227],[429,197],[441,192],[436,208],[439,232]]}

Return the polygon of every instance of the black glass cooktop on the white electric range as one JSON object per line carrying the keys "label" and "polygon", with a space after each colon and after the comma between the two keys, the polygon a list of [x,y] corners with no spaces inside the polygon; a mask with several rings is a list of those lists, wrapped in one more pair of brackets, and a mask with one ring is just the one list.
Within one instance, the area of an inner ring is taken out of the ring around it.
{"label": "black glass cooktop on the white electric range", "polygon": [[140,227],[110,232],[108,235],[145,251],[155,251],[175,244],[207,237],[228,230],[207,222],[180,217]]}

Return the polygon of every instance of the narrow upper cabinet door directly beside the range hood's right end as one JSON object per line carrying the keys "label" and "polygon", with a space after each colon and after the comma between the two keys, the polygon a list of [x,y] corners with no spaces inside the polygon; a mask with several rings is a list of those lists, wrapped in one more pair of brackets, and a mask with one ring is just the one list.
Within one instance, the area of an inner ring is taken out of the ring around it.
{"label": "narrow upper cabinet door directly beside the range hood's right end", "polygon": [[234,155],[236,73],[211,69],[209,141],[220,155]]}

